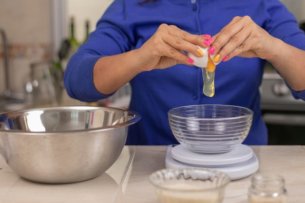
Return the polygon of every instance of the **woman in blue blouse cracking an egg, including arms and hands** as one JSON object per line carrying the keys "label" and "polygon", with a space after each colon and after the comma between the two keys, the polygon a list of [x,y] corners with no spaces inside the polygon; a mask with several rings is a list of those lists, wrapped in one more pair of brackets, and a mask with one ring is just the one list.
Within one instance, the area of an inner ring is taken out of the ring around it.
{"label": "woman in blue blouse cracking an egg, including arms and hands", "polygon": [[[219,56],[215,95],[202,92],[201,68],[186,52]],[[213,48],[211,48],[213,47]],[[177,143],[167,112],[193,104],[229,104],[254,111],[244,144],[266,145],[259,86],[266,61],[305,99],[305,35],[278,0],[114,0],[66,68],[68,94],[93,102],[130,82],[129,109],[142,119],[128,145]]]}

